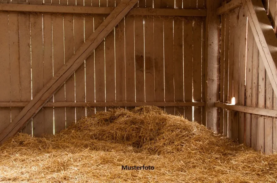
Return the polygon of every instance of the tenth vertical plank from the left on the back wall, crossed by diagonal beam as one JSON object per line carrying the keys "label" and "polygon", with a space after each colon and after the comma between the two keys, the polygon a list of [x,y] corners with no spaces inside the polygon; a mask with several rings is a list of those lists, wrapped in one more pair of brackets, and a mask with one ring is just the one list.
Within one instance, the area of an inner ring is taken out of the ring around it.
{"label": "tenth vertical plank from the left on the back wall, crossed by diagonal beam", "polygon": [[[94,16],[94,30],[104,21],[103,15]],[[105,50],[104,41],[95,50],[95,100],[105,102]],[[97,111],[105,111],[105,108],[96,108]]]}

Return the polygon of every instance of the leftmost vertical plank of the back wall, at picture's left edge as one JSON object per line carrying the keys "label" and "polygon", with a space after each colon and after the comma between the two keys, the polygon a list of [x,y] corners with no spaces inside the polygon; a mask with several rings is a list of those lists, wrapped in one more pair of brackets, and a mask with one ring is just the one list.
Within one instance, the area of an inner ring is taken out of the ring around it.
{"label": "leftmost vertical plank of the back wall, at picture's left edge", "polygon": [[[0,12],[0,101],[10,102],[10,58],[9,58],[9,26],[8,26],[8,13]],[[4,130],[11,122],[11,108],[0,109],[0,131]]]}

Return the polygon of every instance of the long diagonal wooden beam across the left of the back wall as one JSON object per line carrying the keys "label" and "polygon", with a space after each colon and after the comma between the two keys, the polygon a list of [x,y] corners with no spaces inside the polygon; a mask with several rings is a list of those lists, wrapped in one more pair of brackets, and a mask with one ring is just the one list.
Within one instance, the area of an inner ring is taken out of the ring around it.
{"label": "long diagonal wooden beam across the left of the back wall", "polygon": [[138,0],[122,0],[104,22],[95,30],[89,39],[79,48],[75,55],[57,72],[42,88],[30,103],[16,116],[15,120],[0,133],[0,143],[14,136],[24,125],[36,115],[64,82],[76,71],[89,55],[99,46],[113,28],[133,8]]}

